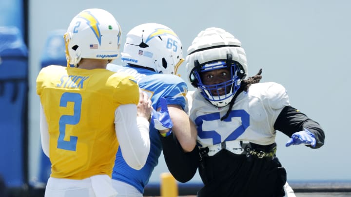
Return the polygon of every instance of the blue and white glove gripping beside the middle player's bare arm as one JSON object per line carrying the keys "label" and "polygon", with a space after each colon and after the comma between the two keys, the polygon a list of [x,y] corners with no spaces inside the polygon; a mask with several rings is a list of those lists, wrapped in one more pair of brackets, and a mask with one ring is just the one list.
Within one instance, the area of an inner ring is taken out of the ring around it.
{"label": "blue and white glove gripping beside the middle player's bare arm", "polygon": [[165,130],[167,128],[170,129],[173,127],[173,123],[171,117],[169,116],[167,100],[164,97],[160,98],[160,105],[160,111],[153,109],[151,113],[151,120],[154,121],[154,125],[157,130]]}

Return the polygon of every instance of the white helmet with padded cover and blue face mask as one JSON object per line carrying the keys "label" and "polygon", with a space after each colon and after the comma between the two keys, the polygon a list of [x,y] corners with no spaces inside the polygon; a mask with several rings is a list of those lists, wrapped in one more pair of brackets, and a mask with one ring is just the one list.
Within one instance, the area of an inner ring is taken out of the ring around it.
{"label": "white helmet with padded cover and blue face mask", "polygon": [[[230,104],[235,92],[240,88],[248,69],[246,54],[241,42],[232,34],[220,28],[201,31],[188,48],[186,69],[191,84],[201,91],[202,96],[217,107]],[[232,79],[220,84],[204,85],[201,72],[227,68]],[[228,88],[230,87],[230,88]],[[214,90],[226,90],[225,94],[214,95]]]}

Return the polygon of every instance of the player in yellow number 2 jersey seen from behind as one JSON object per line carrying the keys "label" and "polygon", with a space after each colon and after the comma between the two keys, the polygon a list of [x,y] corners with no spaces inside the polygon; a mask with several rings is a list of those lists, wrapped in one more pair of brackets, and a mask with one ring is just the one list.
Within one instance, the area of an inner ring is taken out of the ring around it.
{"label": "player in yellow number 2 jersey seen from behind", "polygon": [[119,56],[120,31],[109,12],[83,10],[64,35],[67,67],[51,65],[37,77],[41,144],[51,161],[46,197],[117,195],[118,145],[132,168],[146,162],[151,101],[133,76],[106,70]]}

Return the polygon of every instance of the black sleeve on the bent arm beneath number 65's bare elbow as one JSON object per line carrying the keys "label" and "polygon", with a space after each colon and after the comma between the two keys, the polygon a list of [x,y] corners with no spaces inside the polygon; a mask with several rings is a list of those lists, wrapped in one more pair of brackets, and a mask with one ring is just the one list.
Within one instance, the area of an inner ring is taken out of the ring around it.
{"label": "black sleeve on the bent arm beneath number 65's bare elbow", "polygon": [[197,146],[193,151],[186,153],[173,133],[167,137],[159,136],[163,146],[163,156],[173,177],[179,182],[192,179],[200,160]]}

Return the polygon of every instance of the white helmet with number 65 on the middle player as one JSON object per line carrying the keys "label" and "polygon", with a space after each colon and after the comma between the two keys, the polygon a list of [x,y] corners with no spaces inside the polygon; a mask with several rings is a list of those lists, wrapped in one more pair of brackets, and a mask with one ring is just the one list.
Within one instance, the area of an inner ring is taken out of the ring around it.
{"label": "white helmet with number 65 on the middle player", "polygon": [[162,74],[176,74],[184,61],[182,44],[172,29],[145,23],[128,32],[121,60]]}

